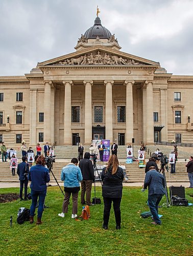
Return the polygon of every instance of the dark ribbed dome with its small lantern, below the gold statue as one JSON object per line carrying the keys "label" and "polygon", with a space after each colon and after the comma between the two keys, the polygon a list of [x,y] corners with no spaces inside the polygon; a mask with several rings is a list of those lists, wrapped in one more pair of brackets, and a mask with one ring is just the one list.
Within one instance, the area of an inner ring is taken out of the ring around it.
{"label": "dark ribbed dome with its small lantern, below the gold statue", "polygon": [[110,39],[111,33],[108,29],[101,25],[100,17],[96,17],[94,20],[94,25],[87,29],[84,36],[86,39],[95,39],[98,36],[101,39]]}

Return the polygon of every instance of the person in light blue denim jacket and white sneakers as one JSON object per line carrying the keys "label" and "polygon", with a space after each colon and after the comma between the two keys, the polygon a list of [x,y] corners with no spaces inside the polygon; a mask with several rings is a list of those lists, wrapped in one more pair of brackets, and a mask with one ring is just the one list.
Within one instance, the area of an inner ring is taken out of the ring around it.
{"label": "person in light blue denim jacket and white sneakers", "polygon": [[81,169],[77,166],[78,159],[71,159],[71,163],[67,164],[62,168],[61,180],[64,181],[64,202],[62,213],[58,216],[64,218],[64,215],[68,212],[68,203],[71,194],[73,194],[73,214],[71,218],[74,219],[77,217],[78,212],[78,195],[80,190],[79,182],[82,181]]}

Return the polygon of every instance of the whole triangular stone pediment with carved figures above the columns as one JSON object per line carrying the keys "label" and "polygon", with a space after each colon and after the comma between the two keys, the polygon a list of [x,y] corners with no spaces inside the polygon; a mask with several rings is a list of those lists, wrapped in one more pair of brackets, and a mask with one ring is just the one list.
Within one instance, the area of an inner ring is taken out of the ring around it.
{"label": "whole triangular stone pediment with carved figures above the columns", "polygon": [[38,63],[38,66],[156,66],[159,62],[144,59],[125,52],[95,46]]}

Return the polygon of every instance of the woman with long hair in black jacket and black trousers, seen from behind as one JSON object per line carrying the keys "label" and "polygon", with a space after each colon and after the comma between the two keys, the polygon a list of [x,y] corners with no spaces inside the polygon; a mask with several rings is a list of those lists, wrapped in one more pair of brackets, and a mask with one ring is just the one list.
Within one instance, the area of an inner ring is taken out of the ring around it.
{"label": "woman with long hair in black jacket and black trousers, seen from behind", "polygon": [[113,202],[116,229],[120,229],[120,201],[122,200],[123,169],[118,166],[118,159],[111,155],[107,167],[103,168],[101,179],[103,181],[102,195],[104,201],[103,228],[108,229],[111,203]]}

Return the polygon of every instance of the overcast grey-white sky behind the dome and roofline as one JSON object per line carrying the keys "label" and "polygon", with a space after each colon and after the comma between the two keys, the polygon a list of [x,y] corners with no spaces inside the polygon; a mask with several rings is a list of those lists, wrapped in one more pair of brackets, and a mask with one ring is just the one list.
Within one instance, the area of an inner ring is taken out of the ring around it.
{"label": "overcast grey-white sky behind the dome and roofline", "polygon": [[0,75],[24,75],[74,52],[97,5],[120,51],[193,75],[193,0],[0,0]]}

